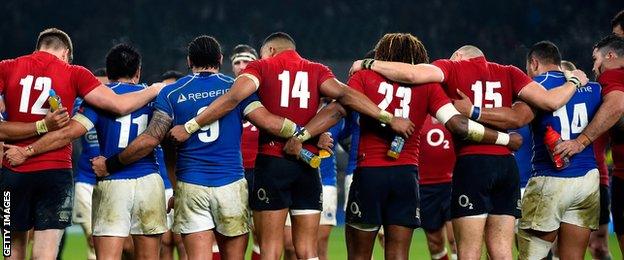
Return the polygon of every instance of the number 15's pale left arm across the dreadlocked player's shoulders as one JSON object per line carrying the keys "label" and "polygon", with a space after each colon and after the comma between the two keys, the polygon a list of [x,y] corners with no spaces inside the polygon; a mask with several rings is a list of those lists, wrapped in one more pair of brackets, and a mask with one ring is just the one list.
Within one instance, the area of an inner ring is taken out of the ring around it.
{"label": "number 15's pale left arm across the dreadlocked player's shoulders", "polygon": [[439,83],[444,80],[444,73],[440,68],[425,63],[414,65],[372,59],[358,60],[353,63],[349,73],[362,69],[370,69],[390,80],[408,84]]}

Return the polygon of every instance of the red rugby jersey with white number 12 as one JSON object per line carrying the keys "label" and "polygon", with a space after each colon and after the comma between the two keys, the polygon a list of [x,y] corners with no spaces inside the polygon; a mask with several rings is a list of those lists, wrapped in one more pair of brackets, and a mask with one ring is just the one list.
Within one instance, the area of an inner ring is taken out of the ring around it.
{"label": "red rugby jersey with white number 12", "polygon": [[[67,111],[73,111],[77,96],[84,97],[101,85],[84,67],[70,65],[56,56],[42,51],[0,62],[0,93],[6,102],[7,121],[35,122],[45,117],[50,106],[48,96],[53,89]],[[38,137],[13,142],[26,146]],[[15,172],[34,172],[49,169],[71,169],[71,145],[28,158],[14,167]]]}

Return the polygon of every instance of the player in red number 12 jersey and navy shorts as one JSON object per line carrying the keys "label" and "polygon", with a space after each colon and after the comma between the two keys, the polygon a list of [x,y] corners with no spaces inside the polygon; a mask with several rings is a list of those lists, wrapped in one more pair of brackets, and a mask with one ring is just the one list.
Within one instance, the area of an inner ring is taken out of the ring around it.
{"label": "player in red number 12 jersey and navy shorts", "polygon": [[[39,34],[34,53],[0,62],[0,94],[5,97],[7,116],[11,121],[32,124],[43,119],[49,111],[46,100],[50,90],[56,92],[66,107],[57,113],[72,111],[74,100],[79,96],[94,107],[127,114],[147,104],[162,88],[162,85],[156,85],[117,95],[84,67],[70,65],[72,55],[69,36],[50,28]],[[30,145],[37,139],[35,133],[50,130],[48,123],[37,123],[39,127],[34,129],[39,131],[33,131],[30,126],[15,129],[18,134],[8,137],[32,138],[9,143]],[[0,128],[4,131],[8,127],[8,123],[3,123]],[[33,227],[33,258],[56,257],[59,239],[70,225],[72,215],[71,147],[67,145],[41,154],[17,167],[6,161],[3,163],[0,188],[11,191],[12,203],[12,223],[8,229],[12,236],[12,255],[8,259],[25,257],[26,231]]]}

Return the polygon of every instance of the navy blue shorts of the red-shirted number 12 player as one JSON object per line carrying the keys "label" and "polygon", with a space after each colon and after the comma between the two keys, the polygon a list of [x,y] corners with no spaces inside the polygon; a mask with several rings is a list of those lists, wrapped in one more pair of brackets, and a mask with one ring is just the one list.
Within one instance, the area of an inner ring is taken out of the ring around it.
{"label": "navy blue shorts of the red-shirted number 12 player", "polygon": [[[16,173],[2,168],[0,189],[9,192],[11,231],[65,229],[71,225],[74,181],[71,170]],[[3,210],[6,203],[3,203]]]}

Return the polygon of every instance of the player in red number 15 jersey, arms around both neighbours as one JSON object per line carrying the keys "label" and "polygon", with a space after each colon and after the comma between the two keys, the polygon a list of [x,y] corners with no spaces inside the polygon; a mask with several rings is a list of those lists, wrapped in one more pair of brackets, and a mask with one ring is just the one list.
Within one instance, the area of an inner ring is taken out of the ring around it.
{"label": "player in red number 15 jersey, arms around both neighbours", "polygon": [[[471,45],[459,48],[450,60],[437,60],[431,65],[367,60],[356,61],[351,67],[352,72],[361,69],[371,69],[398,82],[441,82],[451,98],[467,93],[474,107],[456,105],[458,110],[499,129],[515,129],[528,122],[526,118],[494,113],[510,110],[514,98],[552,111],[566,104],[577,86],[587,82],[582,71],[575,71],[568,83],[547,91],[518,68],[487,61],[483,52]],[[519,107],[530,110],[526,105]],[[490,257],[509,259],[515,218],[520,217],[517,165],[505,147],[460,145],[451,197],[458,256],[478,259],[485,238]]]}

